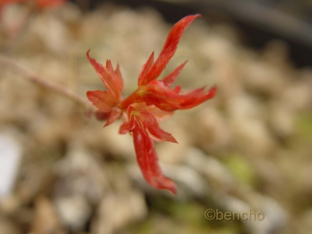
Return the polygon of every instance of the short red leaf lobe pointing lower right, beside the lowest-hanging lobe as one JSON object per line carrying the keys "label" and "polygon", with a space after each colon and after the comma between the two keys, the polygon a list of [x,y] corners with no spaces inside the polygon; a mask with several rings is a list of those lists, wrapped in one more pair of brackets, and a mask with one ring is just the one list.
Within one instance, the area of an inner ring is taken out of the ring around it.
{"label": "short red leaf lobe pointing lower right, beside the lowest-hanging lobe", "polygon": [[138,110],[139,117],[142,118],[143,124],[147,127],[149,132],[156,138],[160,140],[170,141],[177,143],[175,137],[173,137],[170,133],[165,132],[159,126],[159,123],[156,117],[147,110]]}

